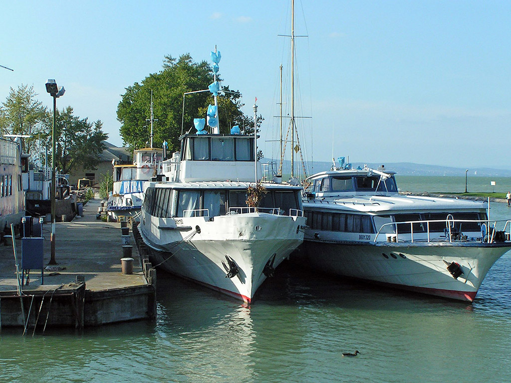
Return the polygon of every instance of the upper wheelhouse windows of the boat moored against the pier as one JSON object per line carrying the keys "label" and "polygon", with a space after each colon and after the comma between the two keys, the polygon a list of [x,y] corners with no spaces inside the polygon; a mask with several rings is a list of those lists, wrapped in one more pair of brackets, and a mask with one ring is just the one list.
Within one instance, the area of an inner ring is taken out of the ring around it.
{"label": "upper wheelhouse windows of the boat moored against the pier", "polygon": [[183,159],[195,161],[253,161],[253,138],[187,137]]}

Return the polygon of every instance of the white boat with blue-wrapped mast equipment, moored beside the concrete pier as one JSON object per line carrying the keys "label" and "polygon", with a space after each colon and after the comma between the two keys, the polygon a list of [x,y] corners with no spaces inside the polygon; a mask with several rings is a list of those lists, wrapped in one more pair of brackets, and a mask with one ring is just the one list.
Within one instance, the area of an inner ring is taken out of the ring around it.
{"label": "white boat with blue-wrapped mast equipment, moored beside the concrete pier", "polygon": [[184,135],[164,175],[146,183],[138,226],[153,265],[250,303],[303,242],[300,187],[260,183],[247,205],[262,175],[253,136]]}

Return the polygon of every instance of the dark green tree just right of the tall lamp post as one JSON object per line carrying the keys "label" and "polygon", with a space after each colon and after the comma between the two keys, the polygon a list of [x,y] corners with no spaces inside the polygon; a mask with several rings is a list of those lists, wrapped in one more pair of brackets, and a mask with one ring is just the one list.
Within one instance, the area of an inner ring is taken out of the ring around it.
{"label": "dark green tree just right of the tall lamp post", "polygon": [[[52,118],[50,113],[48,118]],[[87,118],[73,115],[73,108],[67,106],[55,115],[55,165],[63,174],[73,169],[95,169],[100,162],[99,154],[105,149],[103,141],[108,135],[103,132],[103,123],[94,124]],[[47,146],[52,146],[51,126],[45,132]]]}

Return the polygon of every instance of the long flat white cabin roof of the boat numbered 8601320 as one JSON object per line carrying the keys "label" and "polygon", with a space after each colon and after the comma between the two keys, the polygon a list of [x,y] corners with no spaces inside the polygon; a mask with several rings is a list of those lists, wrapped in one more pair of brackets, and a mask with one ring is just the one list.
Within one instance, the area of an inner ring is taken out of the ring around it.
{"label": "long flat white cabin roof of the boat numbered 8601320", "polygon": [[340,198],[304,200],[304,207],[321,209],[352,210],[365,213],[403,212],[419,213],[434,211],[479,211],[487,208],[486,201],[471,201],[454,198],[437,198],[423,196],[367,196],[353,195]]}

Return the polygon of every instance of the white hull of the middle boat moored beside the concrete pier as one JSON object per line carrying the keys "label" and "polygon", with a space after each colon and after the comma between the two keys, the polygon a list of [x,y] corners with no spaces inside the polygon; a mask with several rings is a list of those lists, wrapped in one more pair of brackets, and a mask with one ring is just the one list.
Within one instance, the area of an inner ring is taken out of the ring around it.
{"label": "white hull of the middle boat moored beside the concrete pier", "polygon": [[[153,265],[246,303],[266,279],[265,267],[276,268],[303,242],[305,225],[303,217],[265,213],[172,221],[180,226],[155,217],[140,225],[144,242],[157,250],[150,255]],[[231,278],[227,257],[239,270]]]}

